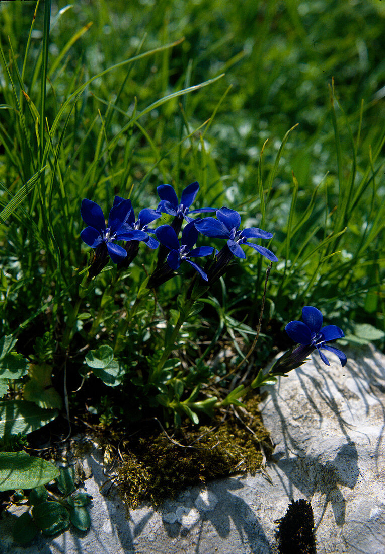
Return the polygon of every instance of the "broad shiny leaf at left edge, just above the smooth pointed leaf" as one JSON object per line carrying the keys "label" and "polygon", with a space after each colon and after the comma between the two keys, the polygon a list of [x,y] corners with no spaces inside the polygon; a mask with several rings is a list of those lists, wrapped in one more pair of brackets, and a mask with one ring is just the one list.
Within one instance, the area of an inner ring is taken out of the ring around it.
{"label": "broad shiny leaf at left edge, just above the smooth pointed leaf", "polygon": [[32,433],[58,416],[57,410],[44,410],[25,400],[0,401],[0,437],[4,434]]}

